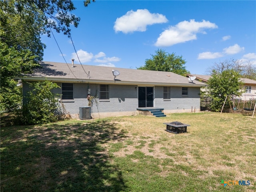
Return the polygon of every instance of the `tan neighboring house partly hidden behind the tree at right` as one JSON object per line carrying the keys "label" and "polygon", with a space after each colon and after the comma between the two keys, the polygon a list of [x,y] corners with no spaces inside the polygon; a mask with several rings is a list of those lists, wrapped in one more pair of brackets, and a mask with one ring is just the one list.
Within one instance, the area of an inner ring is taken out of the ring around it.
{"label": "tan neighboring house partly hidden behind the tree at right", "polygon": [[[197,81],[204,82],[207,84],[209,78],[212,76],[210,75],[198,75],[198,74],[186,74],[187,77],[195,76]],[[250,98],[256,98],[256,80],[251,80],[247,78],[240,78],[240,81],[244,82],[242,87],[243,100],[249,100]]]}

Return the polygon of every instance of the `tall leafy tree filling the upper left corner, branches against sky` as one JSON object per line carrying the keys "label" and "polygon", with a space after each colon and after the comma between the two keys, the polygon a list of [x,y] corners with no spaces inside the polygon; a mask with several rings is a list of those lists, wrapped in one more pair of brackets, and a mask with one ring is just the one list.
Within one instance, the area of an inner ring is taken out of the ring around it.
{"label": "tall leafy tree filling the upper left corner, branches against sky", "polygon": [[[94,2],[94,0],[92,0]],[[84,6],[90,4],[84,1]],[[0,0],[0,110],[14,110],[21,101],[15,76],[31,72],[46,47],[40,36],[51,30],[70,37],[70,25],[80,18],[71,0]]]}

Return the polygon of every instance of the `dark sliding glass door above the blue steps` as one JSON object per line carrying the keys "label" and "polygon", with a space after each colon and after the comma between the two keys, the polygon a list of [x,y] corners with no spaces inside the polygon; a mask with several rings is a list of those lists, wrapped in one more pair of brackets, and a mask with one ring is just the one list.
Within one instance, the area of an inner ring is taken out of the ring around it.
{"label": "dark sliding glass door above the blue steps", "polygon": [[139,87],[138,88],[139,107],[153,107],[154,103],[154,88]]}

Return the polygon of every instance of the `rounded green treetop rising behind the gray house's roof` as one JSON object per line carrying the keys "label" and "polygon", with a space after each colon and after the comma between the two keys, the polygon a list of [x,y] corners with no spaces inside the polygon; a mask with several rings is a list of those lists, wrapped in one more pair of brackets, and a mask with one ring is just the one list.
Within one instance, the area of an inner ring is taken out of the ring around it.
{"label": "rounded green treetop rising behind the gray house's roof", "polygon": [[153,71],[170,71],[176,74],[184,75],[189,73],[184,66],[186,61],[182,56],[176,56],[175,53],[169,54],[165,50],[158,49],[155,55],[151,54],[150,59],[145,60],[145,65],[137,69]]}

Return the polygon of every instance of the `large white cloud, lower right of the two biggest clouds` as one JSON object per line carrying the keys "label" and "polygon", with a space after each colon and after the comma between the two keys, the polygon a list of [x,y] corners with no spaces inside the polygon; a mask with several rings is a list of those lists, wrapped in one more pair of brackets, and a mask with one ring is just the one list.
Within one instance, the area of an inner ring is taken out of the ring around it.
{"label": "large white cloud, lower right of the two biggest clouds", "polygon": [[162,32],[158,37],[155,46],[172,46],[174,44],[195,40],[197,33],[206,34],[204,29],[218,28],[218,26],[209,21],[202,20],[196,22],[194,19],[190,21],[182,21],[175,26],[170,26]]}

